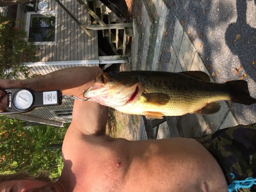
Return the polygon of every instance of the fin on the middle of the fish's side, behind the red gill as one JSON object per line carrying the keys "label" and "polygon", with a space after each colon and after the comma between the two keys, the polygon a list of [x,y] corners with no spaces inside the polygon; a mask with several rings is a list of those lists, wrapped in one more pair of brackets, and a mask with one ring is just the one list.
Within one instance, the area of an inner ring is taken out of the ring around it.
{"label": "fin on the middle of the fish's side, behind the red gill", "polygon": [[145,102],[150,102],[153,105],[165,105],[170,100],[169,95],[165,93],[144,93],[141,96],[146,99]]}

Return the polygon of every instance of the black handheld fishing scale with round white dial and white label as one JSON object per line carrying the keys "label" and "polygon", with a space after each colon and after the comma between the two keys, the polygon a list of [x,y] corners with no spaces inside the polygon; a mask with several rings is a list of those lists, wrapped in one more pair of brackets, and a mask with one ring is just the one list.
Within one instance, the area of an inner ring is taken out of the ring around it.
{"label": "black handheld fishing scale with round white dial and white label", "polygon": [[33,91],[30,89],[6,89],[7,111],[0,115],[26,113],[35,107],[61,105],[62,94],[60,90]]}

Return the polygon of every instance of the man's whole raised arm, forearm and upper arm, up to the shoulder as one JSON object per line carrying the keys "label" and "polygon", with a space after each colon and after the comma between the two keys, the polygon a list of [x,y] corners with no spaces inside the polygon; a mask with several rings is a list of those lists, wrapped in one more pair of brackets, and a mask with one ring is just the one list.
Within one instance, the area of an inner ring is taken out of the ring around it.
{"label": "man's whole raised arm, forearm and upper arm, up to the shoulder", "polygon": [[[90,87],[98,73],[99,67],[65,68],[53,73],[22,81],[1,80],[0,89],[25,87],[34,91],[62,90],[62,94],[83,97],[83,90]],[[7,107],[7,98],[0,91],[0,111]],[[73,108],[72,127],[83,134],[105,133],[107,122],[107,107],[89,101],[75,101]]]}

